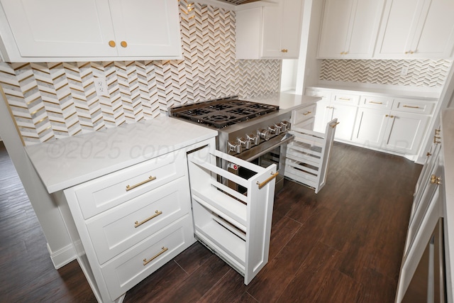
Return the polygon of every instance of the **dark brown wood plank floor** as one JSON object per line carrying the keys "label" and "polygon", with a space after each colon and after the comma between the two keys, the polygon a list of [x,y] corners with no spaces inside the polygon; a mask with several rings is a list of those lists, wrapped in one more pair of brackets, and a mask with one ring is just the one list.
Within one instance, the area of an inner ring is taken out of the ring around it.
{"label": "dark brown wood plank floor", "polygon": [[[285,181],[270,260],[249,285],[200,243],[127,292],[125,302],[394,302],[421,165],[335,143],[319,194]],[[77,261],[53,268],[0,143],[0,302],[96,302]]]}

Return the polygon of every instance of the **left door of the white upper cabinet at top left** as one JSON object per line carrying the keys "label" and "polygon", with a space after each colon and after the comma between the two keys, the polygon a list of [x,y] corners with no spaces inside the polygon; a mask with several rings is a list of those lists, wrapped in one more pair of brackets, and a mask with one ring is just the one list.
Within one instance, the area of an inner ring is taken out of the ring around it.
{"label": "left door of the white upper cabinet at top left", "polygon": [[117,55],[108,0],[0,2],[22,57]]}

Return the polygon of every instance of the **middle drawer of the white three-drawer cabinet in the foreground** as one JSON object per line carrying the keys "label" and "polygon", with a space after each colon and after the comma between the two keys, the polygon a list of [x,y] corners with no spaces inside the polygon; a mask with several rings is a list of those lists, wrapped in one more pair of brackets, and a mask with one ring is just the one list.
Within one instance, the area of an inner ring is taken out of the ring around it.
{"label": "middle drawer of the white three-drawer cabinet in the foreground", "polygon": [[189,182],[181,177],[87,220],[99,264],[172,224],[189,211]]}

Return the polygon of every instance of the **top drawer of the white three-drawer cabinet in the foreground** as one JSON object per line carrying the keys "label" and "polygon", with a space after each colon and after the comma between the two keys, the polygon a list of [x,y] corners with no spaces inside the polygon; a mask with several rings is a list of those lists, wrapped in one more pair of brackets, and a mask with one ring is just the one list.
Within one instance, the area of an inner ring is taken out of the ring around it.
{"label": "top drawer of the white three-drawer cabinet in the foreground", "polygon": [[167,153],[78,185],[75,194],[84,219],[182,177],[186,171],[183,167],[183,153]]}

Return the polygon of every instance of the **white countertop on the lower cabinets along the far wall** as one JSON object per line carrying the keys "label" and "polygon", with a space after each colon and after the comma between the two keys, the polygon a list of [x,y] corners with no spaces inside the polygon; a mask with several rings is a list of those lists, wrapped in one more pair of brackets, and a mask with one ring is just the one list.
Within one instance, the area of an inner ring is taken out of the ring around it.
{"label": "white countertop on the lower cabinets along the far wall", "polygon": [[373,94],[387,97],[425,99],[426,101],[437,101],[440,92],[436,90],[424,90],[419,87],[354,87],[348,84],[319,84],[312,87],[314,89],[343,90],[347,94]]}

